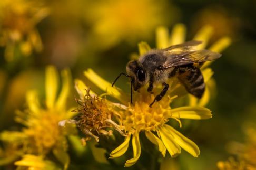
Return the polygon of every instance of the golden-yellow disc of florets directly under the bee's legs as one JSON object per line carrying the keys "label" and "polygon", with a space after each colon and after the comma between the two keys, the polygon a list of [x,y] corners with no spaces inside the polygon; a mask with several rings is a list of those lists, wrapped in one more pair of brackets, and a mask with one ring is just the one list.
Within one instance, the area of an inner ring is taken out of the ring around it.
{"label": "golden-yellow disc of florets directly under the bee's legs", "polygon": [[150,108],[149,105],[154,98],[154,94],[149,94],[144,89],[135,95],[135,104],[129,105],[129,109],[122,115],[126,131],[131,133],[134,133],[135,130],[155,131],[157,126],[168,121],[168,110],[171,109],[170,98],[166,96],[159,102],[155,102]]}

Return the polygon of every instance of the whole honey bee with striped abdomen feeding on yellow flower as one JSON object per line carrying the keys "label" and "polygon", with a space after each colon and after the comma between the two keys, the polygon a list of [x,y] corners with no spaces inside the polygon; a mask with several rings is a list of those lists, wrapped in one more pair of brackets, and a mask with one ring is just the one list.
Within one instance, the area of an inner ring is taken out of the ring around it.
{"label": "whole honey bee with striped abdomen feeding on yellow flower", "polygon": [[188,41],[183,44],[170,46],[164,49],[154,49],[130,61],[126,65],[126,73],[120,73],[112,86],[121,75],[131,79],[131,103],[132,93],[149,83],[148,92],[152,92],[155,83],[163,84],[163,90],[156,95],[149,105],[160,101],[169,89],[166,81],[169,78],[177,77],[186,91],[197,98],[202,98],[205,91],[205,83],[200,67],[205,61],[211,61],[221,57],[221,54],[194,47],[201,44],[201,41]]}

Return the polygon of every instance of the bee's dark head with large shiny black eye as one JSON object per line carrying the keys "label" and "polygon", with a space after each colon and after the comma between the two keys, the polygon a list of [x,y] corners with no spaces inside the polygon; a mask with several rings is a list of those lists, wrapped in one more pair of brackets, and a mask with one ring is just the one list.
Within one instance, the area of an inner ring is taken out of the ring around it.
{"label": "bee's dark head with large shiny black eye", "polygon": [[131,83],[134,91],[137,91],[146,84],[146,72],[139,66],[137,61],[130,61],[126,65],[127,75],[131,77]]}

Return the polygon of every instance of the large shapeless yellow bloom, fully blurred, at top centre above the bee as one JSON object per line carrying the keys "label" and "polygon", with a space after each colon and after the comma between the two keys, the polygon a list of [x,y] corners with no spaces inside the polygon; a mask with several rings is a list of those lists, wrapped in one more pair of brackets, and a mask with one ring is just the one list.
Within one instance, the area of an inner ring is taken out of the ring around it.
{"label": "large shapeless yellow bloom, fully blurred, at top centre above the bee", "polygon": [[85,10],[93,35],[90,43],[100,42],[97,49],[105,49],[122,41],[148,39],[157,25],[172,22],[176,16],[175,8],[167,5],[166,1],[152,0],[90,2]]}

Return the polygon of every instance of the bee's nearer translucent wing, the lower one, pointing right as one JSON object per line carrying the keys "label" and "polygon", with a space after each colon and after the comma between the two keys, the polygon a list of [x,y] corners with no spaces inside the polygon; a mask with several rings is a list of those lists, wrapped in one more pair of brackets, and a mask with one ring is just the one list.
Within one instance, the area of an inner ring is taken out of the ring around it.
{"label": "bee's nearer translucent wing, the lower one, pointing right", "polygon": [[164,51],[164,55],[168,56],[168,58],[163,64],[163,68],[166,69],[175,66],[188,65],[194,62],[211,61],[221,57],[221,54],[206,49],[194,50],[191,48],[187,48],[184,49],[184,51],[175,49]]}

